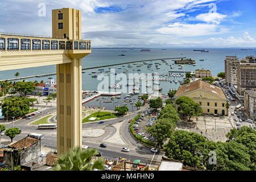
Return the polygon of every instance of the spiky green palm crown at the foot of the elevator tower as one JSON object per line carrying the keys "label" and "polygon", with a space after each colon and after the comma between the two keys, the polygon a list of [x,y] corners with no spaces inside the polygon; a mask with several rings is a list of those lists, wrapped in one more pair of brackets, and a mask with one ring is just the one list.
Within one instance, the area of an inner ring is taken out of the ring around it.
{"label": "spiky green palm crown at the foot of the elevator tower", "polygon": [[104,159],[100,157],[92,164],[92,157],[98,154],[96,148],[82,149],[75,147],[67,154],[58,156],[53,171],[93,171],[93,169],[105,170]]}

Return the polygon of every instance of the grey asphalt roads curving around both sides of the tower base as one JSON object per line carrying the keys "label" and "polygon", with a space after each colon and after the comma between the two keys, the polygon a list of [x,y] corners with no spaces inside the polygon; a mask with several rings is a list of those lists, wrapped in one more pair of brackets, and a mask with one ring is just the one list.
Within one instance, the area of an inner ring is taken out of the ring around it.
{"label": "grey asphalt roads curving around both sides of the tower base", "polygon": [[[53,113],[56,110],[56,107],[51,107],[45,111],[47,111],[46,114],[42,112],[43,114],[36,114],[35,116],[32,116],[31,119],[21,119],[20,121],[14,122],[14,127],[18,127],[19,129],[22,129],[22,133],[19,135],[16,135],[14,138],[15,141],[18,141],[24,137],[26,137],[30,133],[40,133],[44,134],[44,138],[42,140],[42,146],[49,147],[52,150],[56,150],[56,130],[37,130],[37,126],[30,126],[28,123],[34,122],[37,119],[46,117],[49,113]],[[133,113],[126,115],[125,117],[121,118],[115,118],[110,121],[105,121],[104,123],[101,123],[100,125],[97,122],[94,123],[83,123],[82,124],[82,130],[86,130],[88,128],[92,129],[105,129],[105,134],[101,137],[97,138],[90,138],[90,137],[82,137],[82,144],[90,147],[98,148],[98,150],[103,152],[103,156],[105,158],[126,158],[131,160],[141,159],[141,163],[144,164],[150,164],[153,156],[154,159],[152,160],[151,164],[159,164],[160,160],[162,159],[163,153],[160,152],[160,154],[155,154],[150,151],[150,148],[143,146],[142,144],[135,141],[130,133],[129,133],[129,119],[133,119],[135,115],[138,113]],[[117,143],[110,143],[110,142],[104,142],[107,144],[108,147],[101,148],[100,143],[102,143],[102,140],[104,138],[111,137],[116,131],[115,128],[112,126],[115,123],[123,122],[122,126],[119,129],[120,137],[123,140],[125,144],[117,144]],[[6,129],[9,129],[10,127],[13,127],[13,122],[6,123]],[[10,140],[9,137],[2,136],[2,139]],[[127,147],[130,149],[130,152],[122,152],[121,148]]]}

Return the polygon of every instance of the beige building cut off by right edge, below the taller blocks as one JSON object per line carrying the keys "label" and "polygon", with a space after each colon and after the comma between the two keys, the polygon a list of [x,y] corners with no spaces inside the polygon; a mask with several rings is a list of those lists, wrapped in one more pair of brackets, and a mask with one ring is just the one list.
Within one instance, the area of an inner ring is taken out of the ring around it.
{"label": "beige building cut off by right edge, below the taller blocks", "polygon": [[256,90],[244,90],[243,96],[245,112],[256,121]]}

